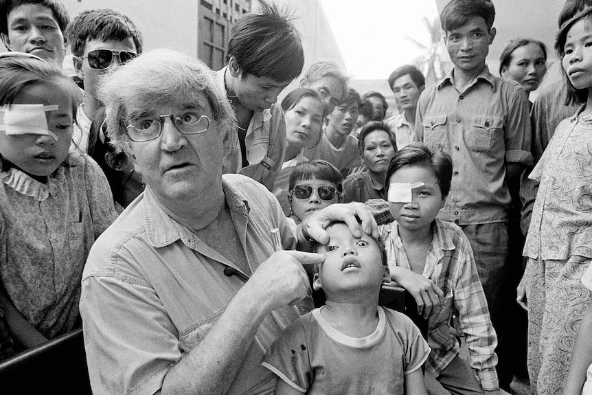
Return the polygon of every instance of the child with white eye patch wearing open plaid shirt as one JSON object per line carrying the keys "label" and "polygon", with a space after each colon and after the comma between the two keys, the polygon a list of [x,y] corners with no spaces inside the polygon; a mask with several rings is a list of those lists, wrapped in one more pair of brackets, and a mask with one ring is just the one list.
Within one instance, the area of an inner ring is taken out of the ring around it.
{"label": "child with white eye patch wearing open plaid shirt", "polygon": [[[391,279],[412,295],[422,287],[431,287],[440,299],[418,301],[418,309],[423,309],[419,313],[429,317],[429,392],[461,386],[489,394],[499,388],[494,353],[497,338],[473,250],[457,225],[436,218],[450,190],[452,168],[450,155],[431,151],[424,144],[409,144],[398,151],[385,183],[395,222],[380,225],[380,234]],[[470,367],[458,355],[460,344],[450,325],[453,314],[466,339]]]}

